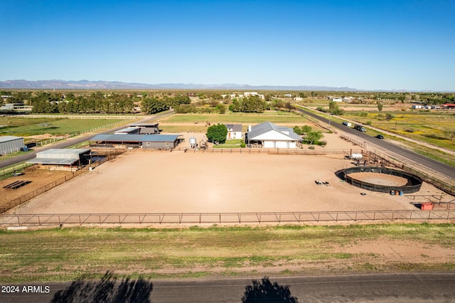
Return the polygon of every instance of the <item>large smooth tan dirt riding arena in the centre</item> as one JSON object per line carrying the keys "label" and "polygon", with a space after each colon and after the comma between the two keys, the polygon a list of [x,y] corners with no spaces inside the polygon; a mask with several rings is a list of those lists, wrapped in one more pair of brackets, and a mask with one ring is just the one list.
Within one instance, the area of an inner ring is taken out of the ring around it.
{"label": "large smooth tan dirt riding arena in the centre", "polygon": [[[195,134],[185,134],[194,136]],[[196,134],[201,137],[203,134]],[[356,149],[325,134],[326,149]],[[188,138],[186,142],[188,143]],[[321,148],[321,147],[317,147]],[[416,209],[406,196],[365,191],[335,171],[352,166],[334,156],[125,153],[77,176],[14,213],[237,213]],[[383,182],[395,176],[383,175]],[[377,176],[375,176],[376,178]],[[328,182],[318,185],[316,181]],[[366,193],[365,196],[360,193]],[[419,195],[444,194],[423,184]]]}

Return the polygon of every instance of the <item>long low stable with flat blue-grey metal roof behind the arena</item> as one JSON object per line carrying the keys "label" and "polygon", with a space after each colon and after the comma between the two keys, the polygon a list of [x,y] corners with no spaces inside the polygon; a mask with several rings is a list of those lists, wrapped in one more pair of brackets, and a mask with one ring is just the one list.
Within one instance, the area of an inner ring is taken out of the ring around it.
{"label": "long low stable with flat blue-grey metal roof behind the arena", "polygon": [[180,134],[97,134],[90,139],[90,146],[122,149],[175,149],[182,141],[180,137]]}

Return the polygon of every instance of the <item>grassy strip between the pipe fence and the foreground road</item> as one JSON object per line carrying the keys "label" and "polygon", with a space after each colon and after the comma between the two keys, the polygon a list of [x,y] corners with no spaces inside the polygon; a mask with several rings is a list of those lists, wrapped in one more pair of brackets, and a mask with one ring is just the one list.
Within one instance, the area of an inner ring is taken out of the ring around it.
{"label": "grassy strip between the pipe fence and the foreground road", "polygon": [[257,268],[274,275],[455,270],[455,260],[385,262],[343,250],[374,240],[453,248],[455,225],[0,230],[0,281],[96,278],[108,270],[132,278],[250,277]]}

